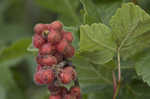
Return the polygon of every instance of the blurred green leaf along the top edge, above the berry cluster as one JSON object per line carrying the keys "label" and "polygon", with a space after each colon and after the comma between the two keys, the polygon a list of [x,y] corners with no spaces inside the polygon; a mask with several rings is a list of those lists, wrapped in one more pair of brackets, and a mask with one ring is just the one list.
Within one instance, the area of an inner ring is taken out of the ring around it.
{"label": "blurred green leaf along the top edge, above the berry cluster", "polygon": [[79,6],[78,0],[36,0],[39,5],[69,17],[76,24],[80,23],[79,17],[76,14],[76,9]]}

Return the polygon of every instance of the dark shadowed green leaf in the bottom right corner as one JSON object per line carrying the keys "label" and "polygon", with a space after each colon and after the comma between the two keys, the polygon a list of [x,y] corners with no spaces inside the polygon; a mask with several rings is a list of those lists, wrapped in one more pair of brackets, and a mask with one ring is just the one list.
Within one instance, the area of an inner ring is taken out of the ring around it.
{"label": "dark shadowed green leaf in the bottom right corner", "polygon": [[149,99],[150,87],[141,81],[133,80],[120,90],[119,99]]}

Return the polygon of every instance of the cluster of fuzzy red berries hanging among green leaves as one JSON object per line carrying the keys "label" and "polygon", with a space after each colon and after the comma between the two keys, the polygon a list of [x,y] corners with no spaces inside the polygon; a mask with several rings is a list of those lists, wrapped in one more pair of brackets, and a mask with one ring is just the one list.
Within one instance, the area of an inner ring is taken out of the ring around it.
{"label": "cluster of fuzzy red berries hanging among green leaves", "polygon": [[48,85],[51,92],[49,99],[81,99],[78,85],[75,84],[69,91],[64,87],[77,80],[76,71],[68,61],[75,53],[71,45],[72,33],[63,30],[59,21],[37,24],[34,32],[33,45],[39,49],[34,75],[36,84]]}

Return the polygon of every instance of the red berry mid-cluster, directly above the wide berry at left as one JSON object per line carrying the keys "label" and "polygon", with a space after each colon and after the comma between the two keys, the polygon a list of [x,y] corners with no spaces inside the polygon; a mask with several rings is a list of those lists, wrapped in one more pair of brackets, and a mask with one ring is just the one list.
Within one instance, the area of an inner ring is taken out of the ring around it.
{"label": "red berry mid-cluster, directly above the wide berry at left", "polygon": [[50,43],[46,43],[40,47],[39,53],[41,55],[52,54],[54,52],[54,49],[54,46],[52,46]]}

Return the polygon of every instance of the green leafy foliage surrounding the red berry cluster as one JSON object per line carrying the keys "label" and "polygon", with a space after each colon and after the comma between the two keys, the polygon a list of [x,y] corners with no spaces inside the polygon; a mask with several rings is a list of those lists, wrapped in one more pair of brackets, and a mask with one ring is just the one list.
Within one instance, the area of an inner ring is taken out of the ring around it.
{"label": "green leafy foliage surrounding the red berry cluster", "polygon": [[[0,99],[48,99],[33,81],[33,26],[60,20],[73,32],[83,99],[111,99],[120,47],[122,84],[118,99],[150,98],[150,1],[1,0]],[[144,10],[143,10],[144,9]],[[30,45],[30,46],[29,46]],[[27,50],[28,49],[28,50]]]}

